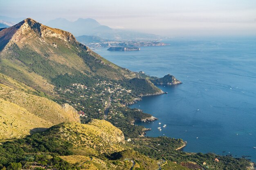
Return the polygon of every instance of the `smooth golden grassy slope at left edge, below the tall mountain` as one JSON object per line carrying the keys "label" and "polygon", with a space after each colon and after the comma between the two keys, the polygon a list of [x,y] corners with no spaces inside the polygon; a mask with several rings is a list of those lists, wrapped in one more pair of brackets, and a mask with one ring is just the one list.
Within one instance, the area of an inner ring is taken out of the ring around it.
{"label": "smooth golden grassy slope at left edge, below the tall mountain", "polygon": [[[7,82],[15,82],[9,77],[5,79],[9,80]],[[14,85],[24,91],[28,90],[23,84]],[[1,140],[28,135],[34,128],[43,130],[64,121],[79,121],[72,107],[64,110],[47,98],[14,90],[3,84],[0,84],[0,100]]]}

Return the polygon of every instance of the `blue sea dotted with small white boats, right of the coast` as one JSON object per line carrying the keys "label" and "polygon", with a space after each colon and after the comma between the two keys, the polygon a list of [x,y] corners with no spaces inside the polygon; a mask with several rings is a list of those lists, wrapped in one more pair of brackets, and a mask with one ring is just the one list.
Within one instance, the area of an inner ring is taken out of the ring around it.
{"label": "blue sea dotted with small white boats, right of the coast", "polygon": [[256,37],[162,42],[169,45],[140,51],[95,50],[131,71],[157,77],[171,73],[182,81],[158,86],[168,94],[143,97],[130,106],[158,118],[137,123],[152,128],[146,136],[182,138],[187,141],[185,152],[248,156],[256,162]]}

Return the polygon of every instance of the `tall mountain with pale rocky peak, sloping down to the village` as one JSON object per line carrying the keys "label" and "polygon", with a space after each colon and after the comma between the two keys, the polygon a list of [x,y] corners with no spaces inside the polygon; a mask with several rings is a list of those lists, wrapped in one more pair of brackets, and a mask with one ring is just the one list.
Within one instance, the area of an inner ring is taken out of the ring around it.
{"label": "tall mountain with pale rocky peak, sloping down to the village", "polygon": [[[2,84],[17,90],[26,88],[26,93],[61,105],[68,103],[84,111],[88,118],[103,119],[103,112],[98,110],[104,110],[109,97],[120,101],[112,104],[115,109],[123,109],[123,104],[139,96],[162,93],[140,74],[121,68],[80,44],[71,33],[30,18],[0,31],[0,43],[0,74],[19,85],[4,77]],[[122,115],[120,119],[122,127],[129,127],[133,121]],[[141,127],[133,129],[143,133]]]}

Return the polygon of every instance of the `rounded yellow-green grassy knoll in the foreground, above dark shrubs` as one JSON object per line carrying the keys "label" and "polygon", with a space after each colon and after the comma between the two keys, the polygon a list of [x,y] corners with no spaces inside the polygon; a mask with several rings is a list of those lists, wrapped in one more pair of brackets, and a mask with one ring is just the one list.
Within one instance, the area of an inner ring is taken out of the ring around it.
{"label": "rounded yellow-green grassy knoll in the foreground, above dark shrubs", "polygon": [[124,150],[122,146],[124,134],[105,120],[92,119],[88,124],[65,123],[56,126],[55,131],[57,133],[51,131],[51,135],[72,142],[74,152],[83,148],[83,152],[88,150],[89,153],[93,150],[93,155],[100,155],[103,152],[112,153]]}

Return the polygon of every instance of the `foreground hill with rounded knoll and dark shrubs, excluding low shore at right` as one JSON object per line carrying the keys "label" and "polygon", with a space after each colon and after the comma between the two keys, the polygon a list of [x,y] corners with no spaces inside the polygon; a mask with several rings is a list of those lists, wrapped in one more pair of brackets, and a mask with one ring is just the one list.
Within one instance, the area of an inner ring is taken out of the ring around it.
{"label": "foreground hill with rounded knoll and dark shrubs, excluding low shore at right", "polygon": [[54,160],[45,156],[52,153],[59,155],[70,166],[83,166],[83,169],[90,170],[129,170],[132,161],[137,168],[158,168],[155,159],[130,150],[130,145],[124,143],[121,130],[108,121],[97,119],[88,124],[62,123],[41,134],[2,143],[0,164],[7,166],[12,161],[26,160],[23,163],[29,166],[29,162],[39,160],[36,157],[54,164]]}

